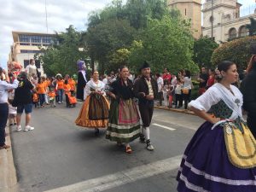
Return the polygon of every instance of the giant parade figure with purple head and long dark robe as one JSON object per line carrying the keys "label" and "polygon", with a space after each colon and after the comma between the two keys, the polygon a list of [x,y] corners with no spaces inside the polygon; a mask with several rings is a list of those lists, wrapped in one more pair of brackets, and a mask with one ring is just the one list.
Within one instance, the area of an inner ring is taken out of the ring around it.
{"label": "giant parade figure with purple head and long dark robe", "polygon": [[79,68],[79,77],[78,77],[78,84],[77,84],[77,98],[80,100],[85,100],[85,85],[87,83],[86,79],[86,72],[85,72],[85,62],[78,61],[77,66]]}

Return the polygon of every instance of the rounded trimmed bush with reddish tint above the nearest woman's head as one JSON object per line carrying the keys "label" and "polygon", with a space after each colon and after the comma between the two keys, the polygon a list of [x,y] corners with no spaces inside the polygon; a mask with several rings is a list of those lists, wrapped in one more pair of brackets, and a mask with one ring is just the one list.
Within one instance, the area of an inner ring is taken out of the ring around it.
{"label": "rounded trimmed bush with reddish tint above the nearest woman's head", "polygon": [[256,36],[239,38],[215,49],[212,54],[212,65],[217,66],[221,61],[234,61],[239,70],[247,68],[250,60],[250,44],[256,40]]}

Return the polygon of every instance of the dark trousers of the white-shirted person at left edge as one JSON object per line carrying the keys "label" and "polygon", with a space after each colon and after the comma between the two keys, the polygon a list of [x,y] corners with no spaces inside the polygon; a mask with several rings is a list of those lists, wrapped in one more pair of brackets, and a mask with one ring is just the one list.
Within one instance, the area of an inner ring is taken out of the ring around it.
{"label": "dark trousers of the white-shirted person at left edge", "polygon": [[5,126],[9,116],[8,103],[0,103],[0,147],[5,144]]}

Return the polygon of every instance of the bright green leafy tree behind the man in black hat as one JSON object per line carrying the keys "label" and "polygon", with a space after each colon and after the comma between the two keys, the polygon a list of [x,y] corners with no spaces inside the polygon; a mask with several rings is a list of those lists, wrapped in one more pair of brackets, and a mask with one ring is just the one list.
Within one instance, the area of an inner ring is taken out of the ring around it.
{"label": "bright green leafy tree behind the man in black hat", "polygon": [[139,62],[146,60],[153,72],[161,72],[165,67],[171,72],[179,68],[197,71],[192,61],[194,38],[189,26],[185,20],[167,15],[161,20],[148,20],[147,28],[140,35],[141,42],[131,46],[131,67],[135,69]]}

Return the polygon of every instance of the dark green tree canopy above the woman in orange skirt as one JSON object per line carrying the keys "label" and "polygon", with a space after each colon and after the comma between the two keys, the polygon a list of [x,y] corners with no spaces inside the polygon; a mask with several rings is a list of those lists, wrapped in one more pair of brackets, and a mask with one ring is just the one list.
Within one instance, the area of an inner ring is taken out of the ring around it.
{"label": "dark green tree canopy above the woman in orange skirt", "polygon": [[129,20],[106,20],[96,27],[90,27],[87,31],[87,43],[90,45],[90,53],[100,63],[102,72],[110,64],[110,55],[118,49],[129,48],[136,30],[130,25]]}

